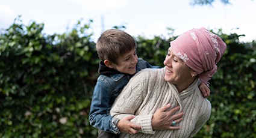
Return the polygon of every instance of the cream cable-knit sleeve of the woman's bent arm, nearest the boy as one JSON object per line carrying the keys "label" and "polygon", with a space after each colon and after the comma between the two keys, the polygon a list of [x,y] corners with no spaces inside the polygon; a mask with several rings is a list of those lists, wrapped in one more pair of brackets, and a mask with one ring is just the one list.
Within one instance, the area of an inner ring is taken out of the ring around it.
{"label": "cream cable-knit sleeve of the woman's bent arm, nearest the boy", "polygon": [[[123,91],[116,98],[111,110],[110,115],[119,119],[123,119],[128,116],[136,115],[144,98],[146,97],[146,86],[148,81],[148,71],[140,71],[137,73],[123,88]],[[136,115],[131,120],[133,124],[140,125],[142,130],[139,132],[145,134],[154,134],[152,130],[152,114],[149,115]]]}

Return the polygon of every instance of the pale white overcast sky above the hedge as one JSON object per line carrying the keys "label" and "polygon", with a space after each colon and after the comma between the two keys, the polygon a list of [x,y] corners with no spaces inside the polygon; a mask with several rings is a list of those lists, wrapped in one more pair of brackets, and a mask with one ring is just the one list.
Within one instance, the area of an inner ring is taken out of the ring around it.
{"label": "pale white overcast sky above the hedge", "polygon": [[[102,29],[124,25],[124,31],[137,37],[152,38],[163,34],[166,28],[175,29],[180,35],[192,28],[219,29],[226,34],[245,34],[240,41],[256,39],[256,1],[229,0],[223,5],[220,0],[213,5],[192,6],[192,0],[0,0],[0,28],[7,29],[18,15],[23,24],[31,20],[45,23],[45,34],[62,34],[81,20],[92,19],[92,40],[96,42]],[[237,29],[239,28],[239,29]]]}

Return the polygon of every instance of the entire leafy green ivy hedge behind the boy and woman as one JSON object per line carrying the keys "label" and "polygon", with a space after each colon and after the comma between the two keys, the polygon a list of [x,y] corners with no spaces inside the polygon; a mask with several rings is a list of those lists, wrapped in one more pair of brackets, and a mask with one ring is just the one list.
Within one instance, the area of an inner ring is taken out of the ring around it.
{"label": "entire leafy green ivy hedge behind the boy and woman", "polygon": [[[0,137],[97,136],[88,121],[99,62],[91,23],[46,36],[43,23],[25,26],[17,18],[1,32]],[[216,34],[228,47],[210,80],[211,117],[195,137],[256,137],[255,42]],[[162,37],[137,37],[138,56],[163,67],[177,36]]]}

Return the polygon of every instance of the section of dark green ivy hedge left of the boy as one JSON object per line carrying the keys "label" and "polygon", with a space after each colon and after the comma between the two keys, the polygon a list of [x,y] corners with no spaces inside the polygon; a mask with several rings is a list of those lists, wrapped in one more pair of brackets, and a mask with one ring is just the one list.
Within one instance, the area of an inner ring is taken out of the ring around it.
{"label": "section of dark green ivy hedge left of the boy", "polygon": [[42,34],[43,23],[16,20],[1,35],[0,137],[90,137],[98,77],[90,23],[69,34]]}

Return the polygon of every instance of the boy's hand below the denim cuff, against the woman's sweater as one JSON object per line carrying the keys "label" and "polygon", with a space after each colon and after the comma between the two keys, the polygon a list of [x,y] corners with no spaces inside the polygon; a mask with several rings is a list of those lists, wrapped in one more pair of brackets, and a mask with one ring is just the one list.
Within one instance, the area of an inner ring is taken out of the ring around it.
{"label": "boy's hand below the denim cuff, against the woman's sweater", "polygon": [[120,119],[116,126],[117,128],[126,134],[136,134],[138,133],[137,129],[142,129],[140,125],[136,125],[130,122],[131,119],[135,118],[135,116],[128,116],[126,118]]}

